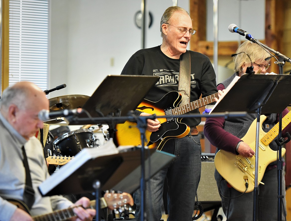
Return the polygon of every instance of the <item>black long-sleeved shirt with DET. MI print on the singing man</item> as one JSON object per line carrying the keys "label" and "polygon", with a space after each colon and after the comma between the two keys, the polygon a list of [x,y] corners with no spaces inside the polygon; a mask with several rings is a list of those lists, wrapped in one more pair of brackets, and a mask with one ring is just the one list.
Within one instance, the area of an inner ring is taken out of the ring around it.
{"label": "black long-sleeved shirt with DET. MI print on the singing man", "polygon": [[[183,54],[181,55],[183,56]],[[190,102],[217,93],[216,75],[209,58],[201,53],[190,51],[191,85]],[[122,75],[158,76],[159,81],[146,95],[150,101],[159,101],[166,93],[178,91],[180,59],[167,57],[161,47],[141,49],[134,53],[123,68]],[[198,113],[198,109],[191,111]],[[197,126],[201,118],[183,118],[188,126]]]}

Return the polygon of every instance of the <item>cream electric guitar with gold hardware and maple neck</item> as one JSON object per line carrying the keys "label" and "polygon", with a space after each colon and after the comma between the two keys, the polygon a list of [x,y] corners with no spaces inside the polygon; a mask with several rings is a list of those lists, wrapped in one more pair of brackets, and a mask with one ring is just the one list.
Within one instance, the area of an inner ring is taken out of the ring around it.
{"label": "cream electric guitar with gold hardware and maple neck", "polygon": [[[262,115],[260,117],[260,131],[259,131],[259,162],[258,162],[258,182],[260,183],[266,167],[277,160],[277,151],[273,151],[269,144],[278,136],[279,123],[277,123],[268,133],[262,130],[262,124],[267,117]],[[282,130],[291,122],[291,112],[286,114],[282,119]],[[246,135],[242,140],[249,144],[249,146],[255,151],[256,141],[256,124],[255,119],[251,124]],[[282,148],[282,157],[285,154],[286,149]],[[241,155],[235,155],[228,151],[219,150],[214,158],[215,168],[219,174],[237,191],[249,193],[253,191],[255,187],[255,156],[243,157]],[[246,190],[244,178],[249,180],[249,187]]]}

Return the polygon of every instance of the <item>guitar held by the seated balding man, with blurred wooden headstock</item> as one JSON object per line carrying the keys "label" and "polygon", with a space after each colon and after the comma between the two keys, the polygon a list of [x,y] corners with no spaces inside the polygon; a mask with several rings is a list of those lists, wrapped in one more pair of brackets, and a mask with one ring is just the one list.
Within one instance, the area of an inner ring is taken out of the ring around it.
{"label": "guitar held by the seated balding man, with blurred wooden headstock", "polygon": [[[29,213],[29,209],[24,202],[21,200],[9,199],[9,202],[16,205],[18,208],[23,209]],[[100,199],[100,209],[108,207],[111,210],[117,209],[125,204],[130,204],[133,206],[133,199],[129,193],[114,193],[107,192]],[[89,208],[95,209],[96,200],[90,201]],[[74,206],[77,207],[77,206]],[[75,217],[74,207],[69,207],[67,209],[56,210],[52,213],[47,213],[44,215],[34,216],[33,220],[35,221],[63,221],[68,220],[72,217]]]}

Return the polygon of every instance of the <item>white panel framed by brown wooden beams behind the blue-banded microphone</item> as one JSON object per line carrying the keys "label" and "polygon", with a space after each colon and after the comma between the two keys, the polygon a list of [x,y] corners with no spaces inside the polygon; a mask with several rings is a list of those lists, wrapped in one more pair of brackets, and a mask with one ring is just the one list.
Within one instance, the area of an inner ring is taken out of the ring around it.
{"label": "white panel framed by brown wooden beams behind the blue-banded microphone", "polygon": [[[236,24],[255,39],[265,39],[265,0],[218,1],[218,40],[243,41],[244,36],[230,33],[228,26]],[[213,41],[213,0],[207,0],[207,41]]]}

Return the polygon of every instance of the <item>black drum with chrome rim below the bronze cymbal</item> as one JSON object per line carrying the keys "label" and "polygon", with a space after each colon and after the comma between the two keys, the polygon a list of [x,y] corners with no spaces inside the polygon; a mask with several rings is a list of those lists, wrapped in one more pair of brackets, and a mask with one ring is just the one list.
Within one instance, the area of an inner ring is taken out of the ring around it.
{"label": "black drum with chrome rim below the bronze cymbal", "polygon": [[54,141],[55,151],[62,156],[74,156],[83,148],[99,147],[98,138],[89,129],[63,134]]}

